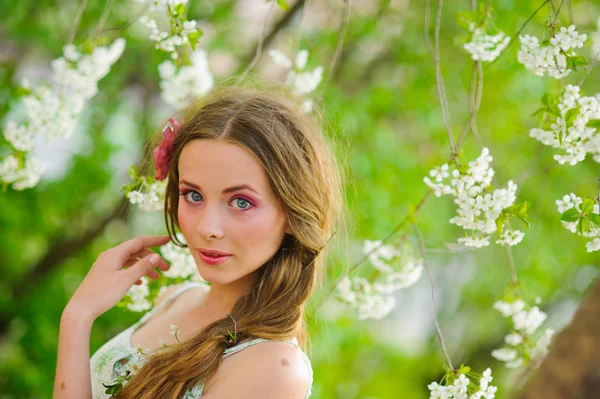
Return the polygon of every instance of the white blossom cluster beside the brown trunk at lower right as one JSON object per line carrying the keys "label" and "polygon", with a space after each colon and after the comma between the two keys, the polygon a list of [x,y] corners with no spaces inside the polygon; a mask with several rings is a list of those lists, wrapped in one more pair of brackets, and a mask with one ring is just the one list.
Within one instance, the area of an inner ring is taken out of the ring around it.
{"label": "white blossom cluster beside the brown trunk at lower right", "polygon": [[546,329],[535,345],[533,345],[531,335],[546,320],[546,313],[537,306],[527,309],[527,305],[521,299],[512,302],[496,301],[494,309],[501,312],[502,316],[512,319],[513,330],[504,337],[506,346],[494,349],[492,356],[505,362],[507,368],[518,368],[528,361],[538,364],[548,353],[548,346],[554,331]]}

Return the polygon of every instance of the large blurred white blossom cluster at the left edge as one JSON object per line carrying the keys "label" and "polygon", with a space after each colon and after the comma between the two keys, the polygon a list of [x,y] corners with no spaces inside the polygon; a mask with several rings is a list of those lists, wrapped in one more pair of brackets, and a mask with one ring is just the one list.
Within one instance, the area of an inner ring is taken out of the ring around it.
{"label": "large blurred white blossom cluster at the left edge", "polygon": [[67,139],[75,131],[86,101],[98,93],[98,81],[110,71],[121,57],[125,40],[119,38],[109,47],[96,47],[90,54],[82,54],[75,46],[63,48],[63,56],[52,61],[54,87],[32,87],[23,81],[26,95],[22,101],[26,121],[8,121],[4,137],[15,149],[0,162],[0,179],[12,183],[16,190],[35,186],[45,165],[29,152],[34,140],[46,142]]}

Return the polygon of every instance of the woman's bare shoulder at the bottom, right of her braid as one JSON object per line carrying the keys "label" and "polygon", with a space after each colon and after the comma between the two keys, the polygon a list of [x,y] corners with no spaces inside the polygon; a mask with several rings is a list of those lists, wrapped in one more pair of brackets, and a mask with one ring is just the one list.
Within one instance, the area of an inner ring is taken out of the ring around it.
{"label": "woman's bare shoulder at the bottom, right of her braid", "polygon": [[223,360],[206,384],[207,398],[303,399],[312,383],[300,348],[262,342]]}

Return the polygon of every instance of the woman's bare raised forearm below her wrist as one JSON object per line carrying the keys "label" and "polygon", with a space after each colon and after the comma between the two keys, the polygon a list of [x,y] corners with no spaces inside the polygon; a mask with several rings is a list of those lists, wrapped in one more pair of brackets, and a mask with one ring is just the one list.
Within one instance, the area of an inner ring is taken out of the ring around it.
{"label": "woman's bare raised forearm below her wrist", "polygon": [[69,304],[60,319],[53,399],[92,397],[90,333],[94,319]]}

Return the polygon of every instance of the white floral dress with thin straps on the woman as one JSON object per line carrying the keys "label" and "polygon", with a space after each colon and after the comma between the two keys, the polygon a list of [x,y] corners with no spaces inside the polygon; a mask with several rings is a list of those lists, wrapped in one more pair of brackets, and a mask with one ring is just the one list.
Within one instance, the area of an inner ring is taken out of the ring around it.
{"label": "white floral dress with thin straps on the woman", "polygon": [[[159,306],[153,308],[148,313],[146,313],[137,323],[133,324],[131,327],[122,331],[120,334],[115,336],[113,339],[105,343],[98,349],[92,358],[90,359],[90,371],[92,377],[92,397],[93,399],[108,399],[110,398],[110,394],[105,393],[106,387],[102,385],[111,385],[115,381],[122,379],[127,371],[132,371],[135,373],[136,369],[141,366],[148,354],[149,349],[144,349],[139,345],[135,347],[131,345],[131,336],[134,331],[144,325],[150,317],[158,310],[160,310],[163,306],[167,306],[170,304],[177,296],[184,293],[190,288],[200,286],[204,283],[199,282],[189,282],[175,290],[166,300],[164,300]],[[243,342],[239,345],[233,346],[231,348],[226,349],[223,352],[223,357],[231,356],[239,351],[242,351],[252,345],[259,344],[261,342],[268,342],[269,340],[264,338],[257,338],[252,341]],[[292,345],[296,346],[298,349],[298,341],[294,338],[291,340],[285,340],[285,342],[289,342]],[[308,399],[311,395],[312,390],[312,381],[313,381],[313,371],[311,367],[310,360],[308,356],[300,349],[300,353],[302,354],[302,358],[308,367],[311,379],[311,385],[308,388],[308,392],[306,393],[305,399]],[[126,383],[125,383],[126,384]],[[193,388],[190,388],[183,399],[196,399],[202,396],[204,385],[200,384]]]}

